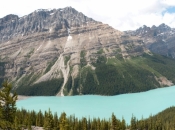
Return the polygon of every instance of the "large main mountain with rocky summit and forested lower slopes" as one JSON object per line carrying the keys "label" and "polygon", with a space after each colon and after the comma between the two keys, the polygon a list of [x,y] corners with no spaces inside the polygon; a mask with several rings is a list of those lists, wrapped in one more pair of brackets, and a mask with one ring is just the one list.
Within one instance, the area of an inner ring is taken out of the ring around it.
{"label": "large main mountain with rocky summit and forested lower slopes", "polygon": [[0,19],[0,82],[10,80],[21,95],[58,96],[117,95],[173,85],[175,61],[152,53],[132,33],[72,7],[7,15]]}

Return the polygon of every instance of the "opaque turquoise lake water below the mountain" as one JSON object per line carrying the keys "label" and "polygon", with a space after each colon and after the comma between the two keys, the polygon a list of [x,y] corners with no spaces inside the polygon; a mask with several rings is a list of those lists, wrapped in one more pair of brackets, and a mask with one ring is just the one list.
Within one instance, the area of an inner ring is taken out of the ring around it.
{"label": "opaque turquoise lake water below the mountain", "polygon": [[147,118],[170,106],[175,106],[175,86],[118,96],[31,97],[17,102],[17,108],[35,111],[50,108],[58,115],[66,112],[79,118],[109,119],[114,113],[119,119],[124,117],[127,123],[130,123],[132,114],[138,119]]}

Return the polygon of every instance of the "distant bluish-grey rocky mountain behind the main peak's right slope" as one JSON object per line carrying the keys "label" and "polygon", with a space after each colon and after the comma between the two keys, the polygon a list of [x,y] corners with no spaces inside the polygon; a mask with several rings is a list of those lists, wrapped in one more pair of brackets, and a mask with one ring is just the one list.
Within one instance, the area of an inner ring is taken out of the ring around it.
{"label": "distant bluish-grey rocky mountain behind the main peak's right slope", "polygon": [[161,24],[158,27],[147,27],[144,25],[135,31],[127,31],[125,33],[141,38],[146,47],[154,53],[172,58],[175,57],[175,29],[165,24]]}

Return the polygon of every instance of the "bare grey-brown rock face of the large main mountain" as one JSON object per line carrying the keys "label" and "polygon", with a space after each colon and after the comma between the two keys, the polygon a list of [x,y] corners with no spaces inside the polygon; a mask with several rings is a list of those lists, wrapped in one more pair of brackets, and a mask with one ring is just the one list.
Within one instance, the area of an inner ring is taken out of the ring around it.
{"label": "bare grey-brown rock face of the large main mountain", "polygon": [[[52,95],[71,95],[74,88],[76,94],[84,94],[85,68],[95,71],[96,63],[107,64],[102,58],[129,60],[150,53],[144,46],[137,35],[115,30],[72,7],[41,9],[21,18],[7,15],[0,19],[0,79],[8,78],[14,89],[23,90],[20,94],[32,89],[27,86],[53,79],[61,81]],[[98,75],[93,80],[99,85]]]}

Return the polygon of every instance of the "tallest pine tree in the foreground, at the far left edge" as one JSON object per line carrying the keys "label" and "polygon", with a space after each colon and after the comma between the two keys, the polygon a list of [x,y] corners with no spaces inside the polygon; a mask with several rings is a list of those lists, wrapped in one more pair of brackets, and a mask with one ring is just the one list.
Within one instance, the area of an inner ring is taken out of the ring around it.
{"label": "tallest pine tree in the foreground, at the far left edge", "polygon": [[8,81],[2,84],[0,91],[0,128],[10,130],[15,118],[17,94],[11,94],[12,85]]}

